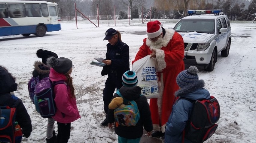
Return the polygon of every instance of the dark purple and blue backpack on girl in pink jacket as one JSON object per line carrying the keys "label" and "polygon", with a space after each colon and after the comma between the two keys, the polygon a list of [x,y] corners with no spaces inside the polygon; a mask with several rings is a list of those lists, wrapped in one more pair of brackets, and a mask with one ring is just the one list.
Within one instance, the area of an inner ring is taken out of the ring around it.
{"label": "dark purple and blue backpack on girl in pink jacket", "polygon": [[[54,102],[54,86],[57,84],[66,84],[61,80],[51,82],[49,77],[41,79],[35,86],[34,104],[36,110],[44,118],[51,118],[56,113],[56,104]],[[67,84],[66,84],[67,85]]]}

